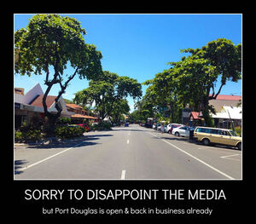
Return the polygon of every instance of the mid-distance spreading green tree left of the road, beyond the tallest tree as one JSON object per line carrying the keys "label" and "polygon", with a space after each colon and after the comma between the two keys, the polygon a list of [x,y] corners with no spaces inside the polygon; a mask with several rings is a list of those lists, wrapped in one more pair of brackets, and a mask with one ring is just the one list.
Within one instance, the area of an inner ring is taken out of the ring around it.
{"label": "mid-distance spreading green tree left of the road, beyond the tallest tree", "polygon": [[103,71],[101,78],[90,80],[89,87],[76,93],[74,101],[81,105],[95,104],[103,120],[111,115],[114,104],[127,96],[134,100],[142,96],[142,86],[134,78],[119,77],[116,73]]}

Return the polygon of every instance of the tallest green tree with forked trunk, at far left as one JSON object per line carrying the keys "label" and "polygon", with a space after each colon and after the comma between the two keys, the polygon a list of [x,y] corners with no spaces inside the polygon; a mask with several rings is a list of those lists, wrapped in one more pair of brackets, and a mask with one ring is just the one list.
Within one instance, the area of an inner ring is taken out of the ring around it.
{"label": "tallest green tree with forked trunk, at far left", "polygon": [[[58,101],[71,80],[75,76],[91,79],[101,74],[102,54],[93,44],[84,43],[85,34],[78,20],[59,14],[34,15],[26,28],[15,32],[15,72],[45,75],[43,106],[49,118],[49,135],[53,135],[55,120],[61,115]],[[73,68],[72,73],[65,73],[67,66]],[[48,112],[46,106],[54,85],[61,89],[55,98],[56,114]]]}

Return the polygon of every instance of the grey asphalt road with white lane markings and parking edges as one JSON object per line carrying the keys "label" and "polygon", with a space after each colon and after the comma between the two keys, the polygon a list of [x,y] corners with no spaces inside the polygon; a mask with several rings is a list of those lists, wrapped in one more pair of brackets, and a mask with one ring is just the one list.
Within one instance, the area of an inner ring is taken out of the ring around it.
{"label": "grey asphalt road with white lane markings and parking edges", "polygon": [[14,179],[241,180],[241,151],[137,124],[51,146],[15,146]]}

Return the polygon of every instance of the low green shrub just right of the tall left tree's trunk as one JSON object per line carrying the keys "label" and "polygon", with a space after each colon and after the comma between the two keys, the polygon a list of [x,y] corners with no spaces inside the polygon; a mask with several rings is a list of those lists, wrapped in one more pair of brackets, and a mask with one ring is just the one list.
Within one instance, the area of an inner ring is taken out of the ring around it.
{"label": "low green shrub just right of the tall left tree's trunk", "polygon": [[68,139],[82,136],[84,128],[79,126],[58,126],[55,129],[55,136],[60,139]]}

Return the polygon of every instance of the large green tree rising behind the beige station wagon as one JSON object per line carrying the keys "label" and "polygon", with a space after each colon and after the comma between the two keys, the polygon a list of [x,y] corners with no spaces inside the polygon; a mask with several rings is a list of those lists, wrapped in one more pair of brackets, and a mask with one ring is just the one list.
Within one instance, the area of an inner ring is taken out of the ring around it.
{"label": "large green tree rising behind the beige station wagon", "polygon": [[[173,63],[177,70],[178,95],[183,102],[199,107],[207,125],[212,125],[210,100],[215,100],[227,81],[241,79],[241,44],[219,38],[201,49],[184,49],[188,57]],[[172,63],[171,63],[172,64]],[[220,86],[216,83],[220,77]]]}

